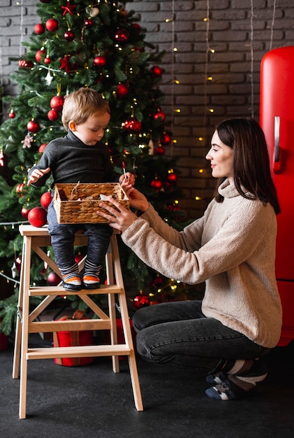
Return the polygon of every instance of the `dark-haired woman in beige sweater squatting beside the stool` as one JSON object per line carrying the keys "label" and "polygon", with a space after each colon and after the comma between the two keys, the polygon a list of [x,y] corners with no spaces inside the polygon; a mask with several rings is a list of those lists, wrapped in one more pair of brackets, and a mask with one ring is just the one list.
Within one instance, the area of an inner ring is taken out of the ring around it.
{"label": "dark-haired woman in beige sweater squatting beside the stool", "polygon": [[164,276],[206,283],[202,302],[168,302],[135,313],[138,353],[152,362],[208,372],[206,394],[235,400],[265,379],[262,358],[281,333],[274,274],[279,202],[256,121],[221,122],[206,159],[218,178],[215,196],[203,217],[182,232],[161,220],[131,186],[128,196],[139,217],[115,200],[113,207],[101,204],[114,216],[98,214]]}

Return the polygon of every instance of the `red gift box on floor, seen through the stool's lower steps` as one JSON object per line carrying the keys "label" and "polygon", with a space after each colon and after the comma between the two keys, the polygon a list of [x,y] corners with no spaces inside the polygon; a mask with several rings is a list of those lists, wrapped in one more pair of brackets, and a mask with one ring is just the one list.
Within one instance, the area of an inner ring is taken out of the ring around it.
{"label": "red gift box on floor, seen through the stool's lower steps", "polygon": [[[76,311],[73,318],[63,316],[59,320],[70,319],[86,319],[82,318],[84,312]],[[91,330],[80,330],[75,332],[54,332],[53,346],[54,347],[73,347],[73,346],[87,346],[93,345],[93,332]],[[64,365],[64,367],[79,367],[81,365],[88,365],[93,362],[94,358],[56,358],[54,362],[57,365]]]}

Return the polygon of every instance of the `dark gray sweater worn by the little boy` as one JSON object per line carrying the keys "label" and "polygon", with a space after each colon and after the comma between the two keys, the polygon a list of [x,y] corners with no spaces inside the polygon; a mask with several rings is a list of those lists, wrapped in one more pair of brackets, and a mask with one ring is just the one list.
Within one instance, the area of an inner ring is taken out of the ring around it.
{"label": "dark gray sweater worn by the little boy", "polygon": [[[29,169],[28,177],[34,169],[50,167],[54,183],[116,183],[119,174],[114,171],[108,148],[102,141],[87,146],[73,132],[47,144],[41,160]],[[42,187],[49,174],[45,174],[32,184]]]}

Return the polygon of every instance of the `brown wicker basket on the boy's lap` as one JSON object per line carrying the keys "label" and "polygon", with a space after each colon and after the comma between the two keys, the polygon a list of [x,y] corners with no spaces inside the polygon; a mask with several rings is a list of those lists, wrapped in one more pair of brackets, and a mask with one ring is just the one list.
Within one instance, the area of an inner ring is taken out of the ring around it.
{"label": "brown wicker basket on the boy's lap", "polygon": [[101,209],[99,204],[103,201],[110,205],[107,200],[110,195],[126,208],[129,207],[128,197],[118,183],[55,184],[53,204],[58,223],[108,222],[107,219],[98,216],[96,211],[106,211]]}

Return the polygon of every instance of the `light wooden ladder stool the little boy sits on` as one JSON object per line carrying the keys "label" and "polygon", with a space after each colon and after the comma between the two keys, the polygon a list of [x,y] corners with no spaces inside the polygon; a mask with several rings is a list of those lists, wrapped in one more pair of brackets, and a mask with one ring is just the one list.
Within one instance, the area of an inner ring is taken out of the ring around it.
{"label": "light wooden ladder stool the little boy sits on", "polygon": [[[20,377],[20,418],[26,418],[27,406],[27,362],[31,359],[48,358],[82,358],[95,356],[112,356],[112,369],[119,372],[119,355],[128,357],[131,374],[131,384],[135,407],[142,411],[142,397],[138,370],[131,336],[131,326],[128,318],[128,307],[122,278],[122,269],[117,247],[118,232],[112,234],[108,253],[105,256],[107,285],[101,285],[96,290],[80,290],[73,292],[65,290],[62,285],[31,287],[31,251],[34,251],[41,260],[61,276],[57,264],[45,253],[44,247],[51,246],[47,227],[33,227],[20,225],[20,234],[23,236],[22,268],[20,272],[20,293],[18,301],[18,318],[15,330],[15,350],[13,358],[13,379]],[[82,231],[75,234],[75,246],[87,246],[87,236]],[[83,261],[81,262],[83,265]],[[82,320],[36,320],[44,309],[59,295],[78,295],[94,311],[98,319]],[[91,295],[108,295],[108,315],[91,299]],[[31,309],[30,297],[43,296],[43,301]],[[122,317],[122,327],[125,344],[117,344],[116,304],[115,297]],[[45,333],[58,331],[78,330],[110,330],[110,345],[68,346],[29,348],[29,333]]]}

